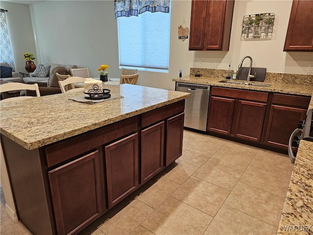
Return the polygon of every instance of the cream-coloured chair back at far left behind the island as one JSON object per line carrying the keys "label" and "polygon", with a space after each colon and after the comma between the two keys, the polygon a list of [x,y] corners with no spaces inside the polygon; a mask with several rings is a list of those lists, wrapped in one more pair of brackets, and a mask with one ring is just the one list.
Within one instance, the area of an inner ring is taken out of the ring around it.
{"label": "cream-coloured chair back at far left behind the island", "polygon": [[[30,90],[30,91],[36,91],[36,96],[40,97],[40,92],[38,88],[38,84],[25,84],[20,82],[8,82],[0,85],[0,93],[2,92],[10,92],[10,91],[19,91],[19,90]],[[16,97],[9,97],[6,99],[2,99],[0,102],[11,102],[11,101],[17,101],[22,99],[29,99],[34,98],[36,96],[28,96],[28,95],[22,95],[22,96],[16,96]]]}

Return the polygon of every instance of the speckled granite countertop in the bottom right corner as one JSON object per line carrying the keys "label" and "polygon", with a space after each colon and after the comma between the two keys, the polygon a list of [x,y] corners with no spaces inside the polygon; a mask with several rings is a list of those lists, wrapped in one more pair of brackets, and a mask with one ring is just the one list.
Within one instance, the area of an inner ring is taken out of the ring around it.
{"label": "speckled granite countertop in the bottom right corner", "polygon": [[313,234],[313,142],[300,141],[277,234]]}

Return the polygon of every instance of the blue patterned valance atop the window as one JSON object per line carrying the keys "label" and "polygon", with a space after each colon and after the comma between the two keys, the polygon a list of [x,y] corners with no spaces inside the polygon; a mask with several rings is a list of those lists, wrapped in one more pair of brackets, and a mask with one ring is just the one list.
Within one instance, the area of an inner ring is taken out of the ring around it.
{"label": "blue patterned valance atop the window", "polygon": [[138,16],[151,12],[170,12],[170,0],[114,0],[115,18],[120,16]]}

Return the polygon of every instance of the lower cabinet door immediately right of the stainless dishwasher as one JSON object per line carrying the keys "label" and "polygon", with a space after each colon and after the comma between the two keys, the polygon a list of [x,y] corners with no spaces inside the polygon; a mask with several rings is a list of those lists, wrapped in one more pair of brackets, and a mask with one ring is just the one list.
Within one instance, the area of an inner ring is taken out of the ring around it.
{"label": "lower cabinet door immediately right of the stainless dishwasher", "polygon": [[207,130],[230,135],[234,104],[234,99],[211,96]]}

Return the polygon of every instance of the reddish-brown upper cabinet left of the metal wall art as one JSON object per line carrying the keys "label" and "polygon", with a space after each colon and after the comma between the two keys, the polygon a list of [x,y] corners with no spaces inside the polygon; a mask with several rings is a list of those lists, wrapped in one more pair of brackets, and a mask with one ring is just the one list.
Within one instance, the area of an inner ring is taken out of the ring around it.
{"label": "reddish-brown upper cabinet left of the metal wall art", "polygon": [[228,50],[234,0],[192,0],[189,50]]}

